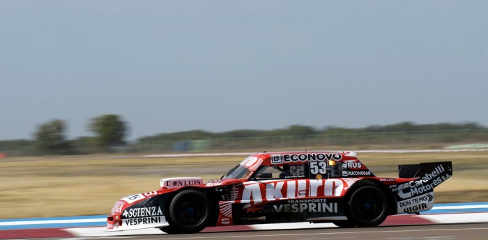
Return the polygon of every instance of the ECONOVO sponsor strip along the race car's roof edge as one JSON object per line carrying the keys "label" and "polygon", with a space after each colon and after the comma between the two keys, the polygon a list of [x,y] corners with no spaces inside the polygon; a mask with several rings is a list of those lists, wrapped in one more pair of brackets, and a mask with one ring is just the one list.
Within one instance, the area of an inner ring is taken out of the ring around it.
{"label": "ECONOVO sponsor strip along the race car's roof edge", "polygon": [[302,154],[271,154],[271,164],[341,160],[342,154],[338,153],[302,153]]}

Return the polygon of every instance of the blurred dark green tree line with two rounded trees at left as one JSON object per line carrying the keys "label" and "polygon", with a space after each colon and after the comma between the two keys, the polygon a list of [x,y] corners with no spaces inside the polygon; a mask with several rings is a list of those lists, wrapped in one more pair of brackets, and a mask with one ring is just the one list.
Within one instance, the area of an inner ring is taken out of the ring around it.
{"label": "blurred dark green tree line with two rounded trees at left", "polygon": [[92,118],[88,123],[89,130],[94,136],[83,136],[73,140],[66,138],[67,124],[64,120],[50,120],[38,125],[33,140],[0,141],[0,152],[15,152],[24,155],[22,151],[29,150],[31,154],[91,154],[97,152],[114,152],[121,147],[141,145],[144,143],[198,141],[215,138],[252,138],[273,136],[313,136],[326,134],[360,134],[374,132],[415,132],[415,131],[452,131],[452,130],[486,130],[486,127],[475,122],[466,123],[437,123],[417,125],[413,122],[399,122],[393,125],[375,125],[363,128],[345,128],[328,126],[315,128],[305,125],[291,125],[282,129],[256,130],[239,129],[214,133],[204,130],[178,131],[167,134],[144,136],[128,143],[127,123],[120,115],[107,114]]}

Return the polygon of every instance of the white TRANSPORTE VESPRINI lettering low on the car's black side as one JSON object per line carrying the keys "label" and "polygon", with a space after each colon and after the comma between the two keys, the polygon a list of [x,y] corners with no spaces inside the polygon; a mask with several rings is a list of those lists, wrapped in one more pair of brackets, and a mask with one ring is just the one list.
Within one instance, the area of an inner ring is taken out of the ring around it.
{"label": "white TRANSPORTE VESPRINI lettering low on the car's black side", "polygon": [[327,202],[326,199],[288,200],[281,205],[273,205],[277,213],[282,212],[322,212],[337,213],[337,202]]}

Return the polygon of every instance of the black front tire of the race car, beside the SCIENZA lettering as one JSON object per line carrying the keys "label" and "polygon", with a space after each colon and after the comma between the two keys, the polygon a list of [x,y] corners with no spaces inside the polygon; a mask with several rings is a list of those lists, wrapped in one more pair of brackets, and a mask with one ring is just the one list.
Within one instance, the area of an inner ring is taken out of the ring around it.
{"label": "black front tire of the race car, beside the SCIENZA lettering", "polygon": [[[170,232],[200,232],[206,227],[210,218],[210,204],[204,193],[200,191],[193,189],[181,191],[174,196],[169,204]],[[166,232],[165,230],[162,231]]]}

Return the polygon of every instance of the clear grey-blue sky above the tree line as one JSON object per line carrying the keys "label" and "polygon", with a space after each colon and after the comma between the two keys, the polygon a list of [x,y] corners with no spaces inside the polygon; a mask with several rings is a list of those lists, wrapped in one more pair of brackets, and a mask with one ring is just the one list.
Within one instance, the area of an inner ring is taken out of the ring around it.
{"label": "clear grey-blue sky above the tree line", "polygon": [[488,1],[0,1],[0,140],[488,125]]}

